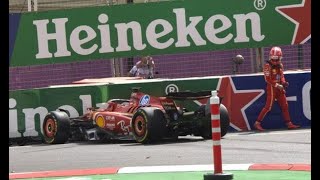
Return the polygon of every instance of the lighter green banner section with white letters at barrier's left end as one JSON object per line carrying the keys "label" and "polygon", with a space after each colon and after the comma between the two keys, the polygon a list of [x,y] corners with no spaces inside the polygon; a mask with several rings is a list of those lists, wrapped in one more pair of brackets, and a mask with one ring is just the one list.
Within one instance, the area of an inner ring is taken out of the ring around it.
{"label": "lighter green banner section with white letters at barrier's left end", "polygon": [[38,136],[49,111],[62,108],[77,117],[105,102],[107,93],[107,86],[9,91],[9,137]]}

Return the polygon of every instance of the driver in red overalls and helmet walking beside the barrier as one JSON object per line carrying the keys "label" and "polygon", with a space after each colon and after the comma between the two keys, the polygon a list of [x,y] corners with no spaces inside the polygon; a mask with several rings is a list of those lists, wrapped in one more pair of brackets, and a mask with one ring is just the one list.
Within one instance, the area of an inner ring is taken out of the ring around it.
{"label": "driver in red overalls and helmet walking beside the barrier", "polygon": [[282,51],[280,47],[272,47],[269,53],[269,60],[264,65],[263,73],[267,87],[267,101],[263,109],[261,110],[258,119],[254,123],[254,127],[258,131],[264,131],[261,126],[261,122],[265,115],[271,110],[275,101],[280,105],[283,119],[288,129],[297,129],[300,126],[294,125],[291,122],[289,115],[288,102],[286,99],[285,88],[289,83],[286,81],[283,75],[283,64],[281,63]]}

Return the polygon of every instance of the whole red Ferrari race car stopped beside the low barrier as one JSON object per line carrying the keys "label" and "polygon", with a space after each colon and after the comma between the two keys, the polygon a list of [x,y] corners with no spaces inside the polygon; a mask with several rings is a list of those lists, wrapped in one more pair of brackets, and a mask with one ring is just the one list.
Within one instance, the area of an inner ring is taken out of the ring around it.
{"label": "whole red Ferrari race car stopped beside the low barrier", "polygon": [[[130,99],[111,99],[99,108],[88,108],[80,117],[70,118],[63,109],[49,112],[43,121],[43,139],[47,144],[109,139],[150,143],[186,135],[209,139],[212,134],[210,96],[210,91],[186,91],[155,97],[133,88]],[[208,103],[195,111],[176,103],[200,99],[208,99]],[[230,123],[223,104],[220,104],[220,119],[223,137]]]}

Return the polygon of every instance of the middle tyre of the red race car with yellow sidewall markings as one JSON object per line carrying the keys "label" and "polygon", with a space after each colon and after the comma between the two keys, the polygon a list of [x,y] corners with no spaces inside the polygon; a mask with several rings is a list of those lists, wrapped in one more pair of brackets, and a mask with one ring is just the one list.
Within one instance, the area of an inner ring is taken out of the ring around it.
{"label": "middle tyre of the red race car with yellow sidewall markings", "polygon": [[138,143],[155,142],[165,135],[166,119],[160,109],[143,107],[133,115],[131,129]]}

